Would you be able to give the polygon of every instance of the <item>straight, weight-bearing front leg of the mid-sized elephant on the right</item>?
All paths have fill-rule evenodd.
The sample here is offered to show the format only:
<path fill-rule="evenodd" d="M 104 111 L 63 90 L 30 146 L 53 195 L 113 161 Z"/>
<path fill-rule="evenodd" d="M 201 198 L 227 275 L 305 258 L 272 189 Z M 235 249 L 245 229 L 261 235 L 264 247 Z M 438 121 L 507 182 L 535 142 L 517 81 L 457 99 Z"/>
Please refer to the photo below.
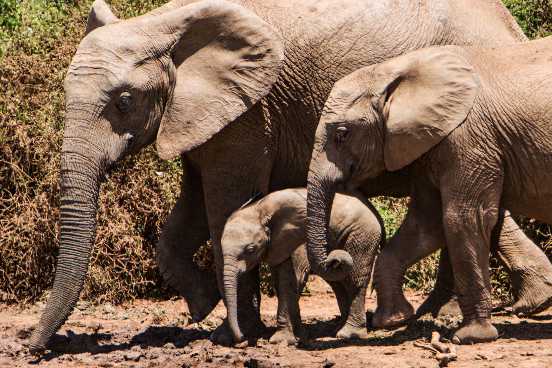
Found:
<path fill-rule="evenodd" d="M 477 185 L 476 179 L 471 178 L 472 183 L 457 180 L 454 188 L 442 189 L 443 227 L 464 315 L 464 327 L 455 333 L 453 342 L 461 344 L 490 342 L 498 337 L 491 324 L 489 253 L 502 183 L 487 180 L 483 186 Z"/>

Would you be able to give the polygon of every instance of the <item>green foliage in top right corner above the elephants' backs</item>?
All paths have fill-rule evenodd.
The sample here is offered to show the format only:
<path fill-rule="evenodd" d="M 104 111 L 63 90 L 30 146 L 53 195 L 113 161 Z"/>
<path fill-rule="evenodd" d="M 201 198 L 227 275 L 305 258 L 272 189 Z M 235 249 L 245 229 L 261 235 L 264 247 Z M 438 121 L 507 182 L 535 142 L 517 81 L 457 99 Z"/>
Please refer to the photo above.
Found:
<path fill-rule="evenodd" d="M 552 34 L 550 0 L 502 0 L 529 39 Z"/>

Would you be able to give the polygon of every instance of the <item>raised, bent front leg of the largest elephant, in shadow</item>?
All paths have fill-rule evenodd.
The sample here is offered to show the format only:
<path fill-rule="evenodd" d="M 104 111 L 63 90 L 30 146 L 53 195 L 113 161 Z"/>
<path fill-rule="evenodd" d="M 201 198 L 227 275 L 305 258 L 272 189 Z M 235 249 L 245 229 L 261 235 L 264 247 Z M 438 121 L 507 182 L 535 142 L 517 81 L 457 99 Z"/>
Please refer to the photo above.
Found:
<path fill-rule="evenodd" d="M 181 194 L 167 218 L 155 249 L 164 280 L 188 303 L 195 322 L 204 319 L 220 301 L 216 276 L 198 268 L 193 256 L 209 240 L 201 175 L 185 155 L 181 158 Z"/>

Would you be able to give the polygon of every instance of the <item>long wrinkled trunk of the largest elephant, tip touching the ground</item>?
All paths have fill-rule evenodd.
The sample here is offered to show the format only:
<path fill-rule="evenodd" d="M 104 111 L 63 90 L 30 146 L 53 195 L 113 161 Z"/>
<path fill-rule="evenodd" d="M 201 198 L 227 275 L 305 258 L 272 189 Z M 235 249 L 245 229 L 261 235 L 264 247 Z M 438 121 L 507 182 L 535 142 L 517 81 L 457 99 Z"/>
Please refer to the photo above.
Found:
<path fill-rule="evenodd" d="M 82 126 L 79 122 L 83 120 L 71 121 L 70 114 L 68 110 L 61 157 L 60 253 L 50 298 L 31 335 L 29 350 L 34 355 L 44 352 L 81 294 L 92 249 L 100 178 L 107 167 L 103 151 L 108 143 L 94 140 L 92 135 L 76 137 L 72 126 Z M 120 151 L 116 146 L 113 152 Z"/>

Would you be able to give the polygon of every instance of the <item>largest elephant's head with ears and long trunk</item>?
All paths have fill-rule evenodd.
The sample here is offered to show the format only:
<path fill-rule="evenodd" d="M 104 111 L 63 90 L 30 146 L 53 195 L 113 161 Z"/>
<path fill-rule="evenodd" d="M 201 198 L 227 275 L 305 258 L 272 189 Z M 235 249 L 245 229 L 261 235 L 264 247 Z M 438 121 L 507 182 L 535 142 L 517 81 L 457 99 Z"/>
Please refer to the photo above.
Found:
<path fill-rule="evenodd" d="M 104 173 L 156 139 L 165 159 L 201 145 L 267 95 L 282 64 L 278 31 L 230 2 L 174 0 L 129 20 L 94 2 L 65 81 L 60 254 L 31 352 L 82 290 Z"/>

